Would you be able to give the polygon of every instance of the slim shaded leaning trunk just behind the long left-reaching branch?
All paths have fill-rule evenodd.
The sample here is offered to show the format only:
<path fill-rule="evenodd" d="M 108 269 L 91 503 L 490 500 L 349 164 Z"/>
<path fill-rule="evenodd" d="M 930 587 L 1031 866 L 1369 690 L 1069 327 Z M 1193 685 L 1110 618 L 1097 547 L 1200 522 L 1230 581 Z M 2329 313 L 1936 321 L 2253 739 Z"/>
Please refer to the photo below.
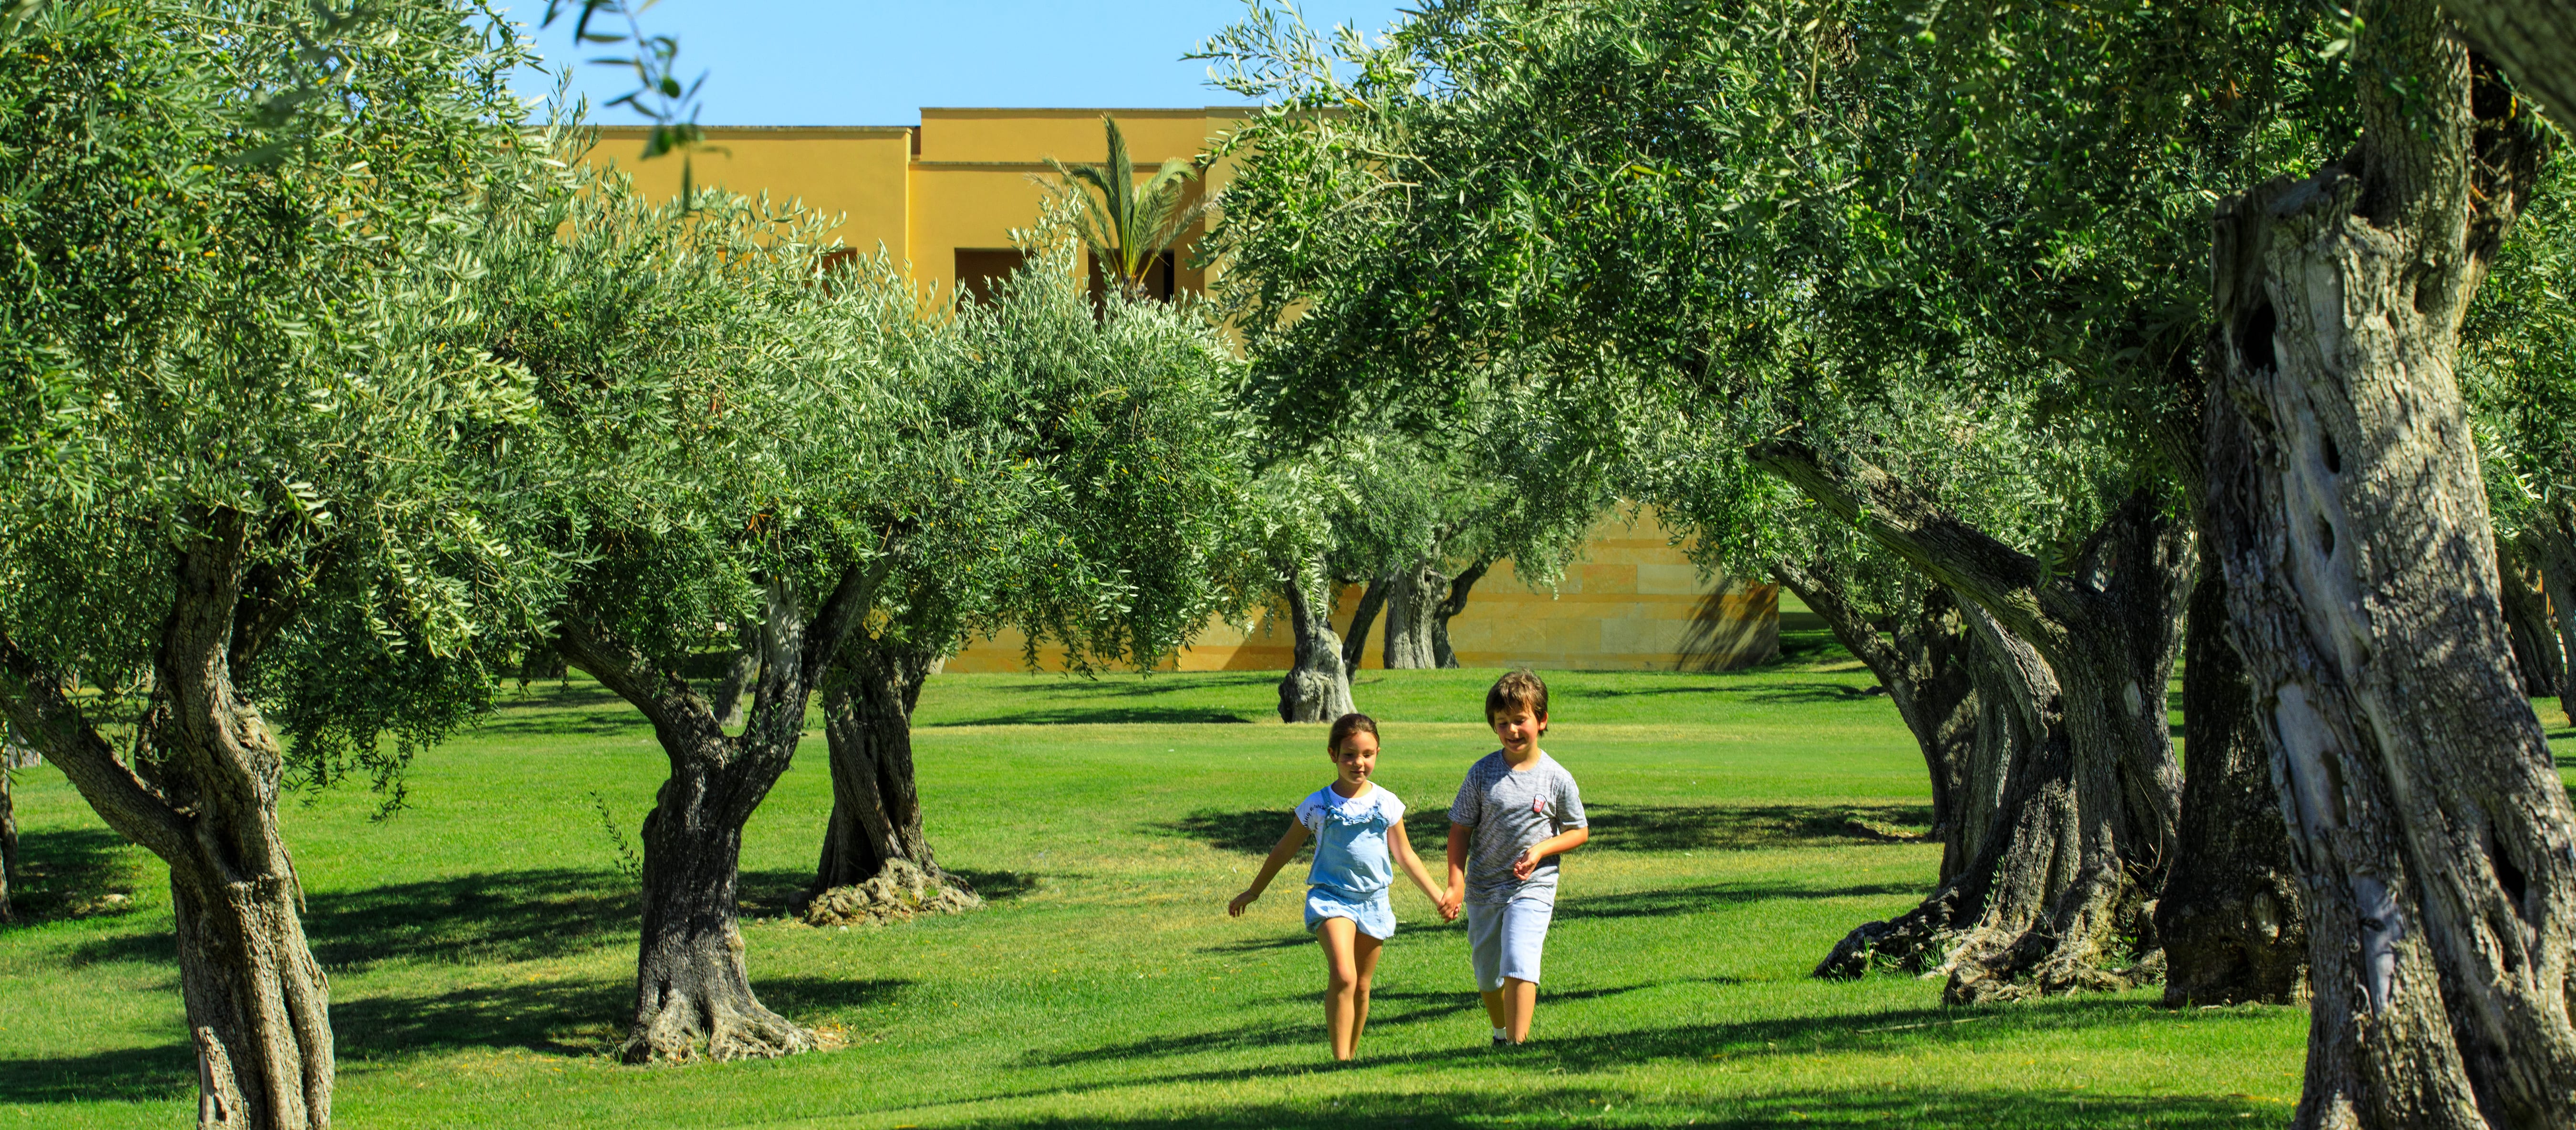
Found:
<path fill-rule="evenodd" d="M 1942 842 L 1940 883 L 1950 883 L 1973 852 L 1968 829 L 1984 829 L 1991 819 L 1986 811 L 1963 808 L 1971 749 L 1978 739 L 1978 698 L 1968 659 L 1973 641 L 1958 602 L 1950 600 L 1950 589 L 1922 584 L 1914 607 L 1873 618 L 1844 592 L 1842 566 L 1829 559 L 1777 561 L 1772 577 L 1806 600 L 1834 638 L 1870 667 L 1880 687 L 1888 687 L 1888 700 L 1914 734 L 1932 777 L 1932 837 Z"/>

